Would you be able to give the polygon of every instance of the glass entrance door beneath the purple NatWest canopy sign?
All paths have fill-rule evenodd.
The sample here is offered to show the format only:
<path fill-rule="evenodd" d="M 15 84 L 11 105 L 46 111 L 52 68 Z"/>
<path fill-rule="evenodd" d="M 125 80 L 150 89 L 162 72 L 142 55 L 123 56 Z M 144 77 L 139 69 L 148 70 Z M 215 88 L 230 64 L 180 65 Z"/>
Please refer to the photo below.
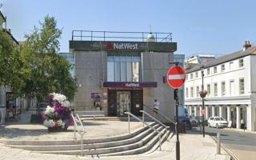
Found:
<path fill-rule="evenodd" d="M 130 111 L 130 91 L 117 92 L 117 109 L 118 116 L 124 116 L 125 112 Z"/>

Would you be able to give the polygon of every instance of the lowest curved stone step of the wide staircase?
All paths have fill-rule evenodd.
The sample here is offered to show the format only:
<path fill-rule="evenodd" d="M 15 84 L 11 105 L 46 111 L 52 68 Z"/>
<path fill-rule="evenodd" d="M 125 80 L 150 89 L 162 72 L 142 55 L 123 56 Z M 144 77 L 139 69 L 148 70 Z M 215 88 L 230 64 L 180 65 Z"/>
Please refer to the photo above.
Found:
<path fill-rule="evenodd" d="M 163 129 L 162 126 L 159 126 L 157 130 L 161 131 Z M 151 129 L 148 129 L 151 130 Z M 83 150 L 83 153 L 86 155 L 98 155 L 98 154 L 109 154 L 109 153 L 116 153 L 116 152 L 122 152 L 126 150 L 134 150 L 136 148 L 140 148 L 144 146 L 147 142 L 150 142 L 152 138 L 154 138 L 156 135 L 155 132 L 152 132 L 146 137 L 142 138 L 142 140 L 122 145 L 122 146 L 114 146 L 114 147 L 106 147 L 106 148 L 97 148 L 97 149 L 90 149 L 90 150 Z M 57 150 L 57 151 L 37 151 L 37 153 L 42 154 L 80 154 L 81 150 Z"/>

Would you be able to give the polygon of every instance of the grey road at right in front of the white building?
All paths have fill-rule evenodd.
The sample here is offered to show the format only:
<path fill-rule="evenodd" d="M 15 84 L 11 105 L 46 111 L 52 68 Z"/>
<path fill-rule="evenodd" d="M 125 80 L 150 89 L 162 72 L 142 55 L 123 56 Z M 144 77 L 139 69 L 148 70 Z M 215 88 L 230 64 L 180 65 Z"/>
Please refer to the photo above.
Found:
<path fill-rule="evenodd" d="M 193 130 L 199 131 L 199 128 Z M 206 134 L 216 138 L 219 132 L 222 135 L 222 146 L 230 151 L 239 160 L 256 159 L 256 133 L 241 132 L 216 128 L 205 128 Z"/>

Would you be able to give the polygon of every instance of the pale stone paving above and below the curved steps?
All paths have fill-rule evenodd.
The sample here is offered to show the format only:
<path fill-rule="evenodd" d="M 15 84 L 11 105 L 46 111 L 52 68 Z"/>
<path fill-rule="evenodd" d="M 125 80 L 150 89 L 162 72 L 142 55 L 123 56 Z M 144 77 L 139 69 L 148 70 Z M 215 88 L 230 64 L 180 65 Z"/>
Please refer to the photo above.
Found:
<path fill-rule="evenodd" d="M 95 138 L 98 136 L 113 136 L 117 134 L 126 134 L 127 122 L 107 122 L 107 121 L 90 121 L 90 124 L 86 126 L 87 138 Z M 134 122 L 134 130 L 140 127 L 141 124 Z M 62 139 L 70 137 L 72 138 L 73 132 L 63 134 L 47 134 L 46 128 L 40 125 L 30 125 L 27 123 L 22 124 L 7 124 L 6 126 L 0 126 L 1 138 L 26 138 L 26 139 L 48 139 L 48 138 L 60 138 Z M 98 129 L 97 131 L 95 131 Z M 34 132 L 36 130 L 36 132 Z M 71 128 L 70 128 L 71 130 Z M 102 132 L 100 132 L 102 130 Z M 18 131 L 18 132 L 17 132 Z M 95 132 L 94 132 L 95 131 Z M 22 133 L 24 132 L 24 133 Z M 38 134 L 42 132 L 41 134 Z M 34 133 L 34 134 L 33 134 Z M 38 134 L 38 136 L 36 135 Z M 69 135 L 70 134 L 70 135 Z M 227 160 L 230 159 L 229 154 L 225 150 L 222 150 L 222 154 L 216 154 L 217 148 L 214 140 L 210 135 L 206 135 L 202 138 L 201 134 L 193 130 L 188 131 L 187 134 L 180 134 L 180 155 L 182 160 Z M 176 136 L 169 138 L 168 141 L 162 144 L 162 150 L 151 150 L 145 154 L 129 155 L 129 156 L 114 156 L 114 157 L 91 157 L 91 156 L 72 156 L 62 154 L 38 154 L 32 153 L 29 150 L 20 150 L 9 148 L 0 143 L 0 160 L 80 160 L 80 159 L 102 159 L 102 160 L 166 160 L 176 159 Z"/>

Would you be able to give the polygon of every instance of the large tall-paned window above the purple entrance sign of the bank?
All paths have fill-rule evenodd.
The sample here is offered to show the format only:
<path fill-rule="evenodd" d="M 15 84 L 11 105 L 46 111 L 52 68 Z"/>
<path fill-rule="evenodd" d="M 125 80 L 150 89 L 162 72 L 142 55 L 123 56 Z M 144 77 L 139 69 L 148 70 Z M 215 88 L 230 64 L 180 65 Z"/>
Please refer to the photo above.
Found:
<path fill-rule="evenodd" d="M 141 58 L 134 56 L 108 56 L 108 82 L 139 82 L 141 73 Z"/>

